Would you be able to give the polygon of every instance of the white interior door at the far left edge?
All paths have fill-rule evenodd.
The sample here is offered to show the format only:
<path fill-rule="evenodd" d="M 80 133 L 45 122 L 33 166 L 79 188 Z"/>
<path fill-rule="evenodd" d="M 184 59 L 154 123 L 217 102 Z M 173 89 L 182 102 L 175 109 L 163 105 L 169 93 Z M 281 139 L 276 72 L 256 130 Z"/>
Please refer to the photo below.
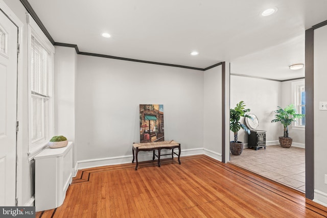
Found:
<path fill-rule="evenodd" d="M 0 205 L 15 206 L 17 27 L 0 11 Z"/>

